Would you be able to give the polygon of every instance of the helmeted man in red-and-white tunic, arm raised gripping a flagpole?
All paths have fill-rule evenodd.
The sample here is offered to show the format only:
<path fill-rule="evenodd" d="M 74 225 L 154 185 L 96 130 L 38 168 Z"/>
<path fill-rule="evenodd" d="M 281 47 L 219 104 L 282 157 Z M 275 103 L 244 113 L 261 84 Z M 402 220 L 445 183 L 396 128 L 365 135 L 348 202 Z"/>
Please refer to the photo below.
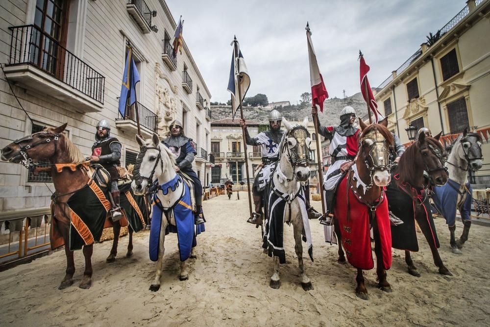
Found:
<path fill-rule="evenodd" d="M 317 117 L 318 109 L 312 107 L 313 117 Z M 320 224 L 329 226 L 332 222 L 333 199 L 335 187 L 342 176 L 343 164 L 353 161 L 357 155 L 359 136 L 361 129 L 354 127 L 356 121 L 356 111 L 351 106 L 346 106 L 340 113 L 339 126 L 321 126 L 317 120 L 318 132 L 320 135 L 330 140 L 328 153 L 331 156 L 332 164 L 323 177 L 323 190 L 325 194 L 326 217 L 320 217 Z"/>

